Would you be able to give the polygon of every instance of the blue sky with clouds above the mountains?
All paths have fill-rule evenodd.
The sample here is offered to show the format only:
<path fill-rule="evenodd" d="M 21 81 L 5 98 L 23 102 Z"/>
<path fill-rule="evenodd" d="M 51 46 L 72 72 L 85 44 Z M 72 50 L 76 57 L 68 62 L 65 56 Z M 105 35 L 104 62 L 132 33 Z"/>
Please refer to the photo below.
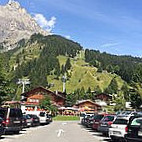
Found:
<path fill-rule="evenodd" d="M 142 57 L 142 0 L 16 1 L 44 30 L 83 48 Z"/>

